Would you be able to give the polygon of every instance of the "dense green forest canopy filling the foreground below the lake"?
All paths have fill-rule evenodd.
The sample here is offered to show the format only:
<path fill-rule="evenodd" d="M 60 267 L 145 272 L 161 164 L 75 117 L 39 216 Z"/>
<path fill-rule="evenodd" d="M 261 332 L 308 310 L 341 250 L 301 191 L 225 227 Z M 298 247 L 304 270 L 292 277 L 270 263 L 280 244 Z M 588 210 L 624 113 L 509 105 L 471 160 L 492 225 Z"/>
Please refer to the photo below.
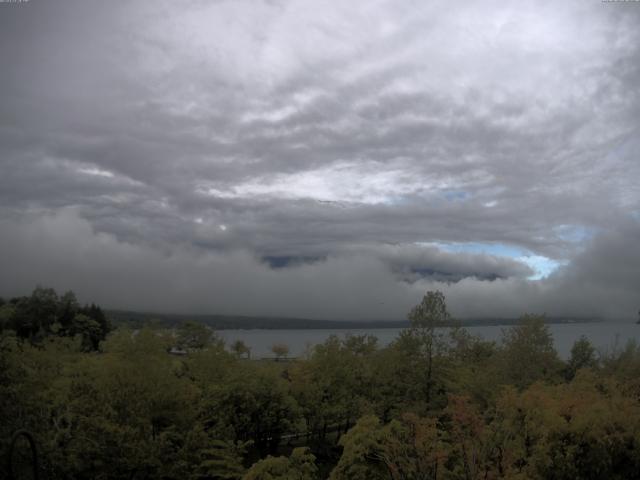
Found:
<path fill-rule="evenodd" d="M 408 318 L 385 348 L 332 336 L 282 362 L 197 322 L 112 330 L 71 292 L 0 301 L 5 464 L 27 472 L 25 445 L 6 458 L 26 429 L 49 479 L 640 478 L 636 344 L 562 361 L 535 315 L 487 342 L 440 328 L 440 292 Z"/>

